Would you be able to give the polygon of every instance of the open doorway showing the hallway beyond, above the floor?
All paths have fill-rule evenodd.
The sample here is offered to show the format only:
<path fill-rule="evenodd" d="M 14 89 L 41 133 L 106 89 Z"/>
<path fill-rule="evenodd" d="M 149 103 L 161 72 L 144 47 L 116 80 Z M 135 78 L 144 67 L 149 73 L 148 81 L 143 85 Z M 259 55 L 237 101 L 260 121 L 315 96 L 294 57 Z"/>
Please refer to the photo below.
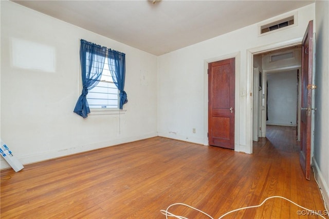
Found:
<path fill-rule="evenodd" d="M 267 125 L 293 127 L 300 139 L 301 45 L 253 55 L 252 141 Z"/>

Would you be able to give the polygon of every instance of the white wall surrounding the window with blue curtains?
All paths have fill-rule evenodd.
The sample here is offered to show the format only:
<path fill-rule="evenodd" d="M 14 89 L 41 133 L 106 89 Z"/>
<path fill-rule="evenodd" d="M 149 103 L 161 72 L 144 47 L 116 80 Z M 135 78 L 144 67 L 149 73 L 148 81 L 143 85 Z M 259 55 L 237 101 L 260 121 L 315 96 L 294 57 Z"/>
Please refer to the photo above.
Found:
<path fill-rule="evenodd" d="M 39 50 L 27 51 L 27 46 L 15 52 L 12 42 L 17 39 Z M 90 115 L 83 119 L 72 112 L 81 94 L 79 39 L 126 54 L 125 91 L 129 102 L 124 105 L 124 115 Z M 48 64 L 22 66 L 13 62 L 20 52 L 30 52 L 41 60 L 41 48 L 53 51 L 53 58 L 46 59 Z M 49 66 L 51 63 L 54 66 Z M 153 137 L 156 131 L 156 56 L 1 1 L 1 138 L 21 162 Z M 1 168 L 6 167 L 2 159 Z"/>

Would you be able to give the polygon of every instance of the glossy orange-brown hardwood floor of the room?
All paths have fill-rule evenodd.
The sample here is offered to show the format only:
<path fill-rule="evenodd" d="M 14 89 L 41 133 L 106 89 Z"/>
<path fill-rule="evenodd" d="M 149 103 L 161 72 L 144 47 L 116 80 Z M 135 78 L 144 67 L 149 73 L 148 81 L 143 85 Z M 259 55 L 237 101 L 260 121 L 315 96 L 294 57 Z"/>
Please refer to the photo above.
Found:
<path fill-rule="evenodd" d="M 155 137 L 53 159 L 15 173 L 1 171 L 1 218 L 166 218 L 185 203 L 213 218 L 280 195 L 313 210 L 325 208 L 312 175 L 306 180 L 295 146 L 269 139 L 254 153 Z M 270 199 L 224 218 L 320 218 Z M 300 209 L 301 210 L 301 209 Z M 172 213 L 207 218 L 184 206 Z"/>

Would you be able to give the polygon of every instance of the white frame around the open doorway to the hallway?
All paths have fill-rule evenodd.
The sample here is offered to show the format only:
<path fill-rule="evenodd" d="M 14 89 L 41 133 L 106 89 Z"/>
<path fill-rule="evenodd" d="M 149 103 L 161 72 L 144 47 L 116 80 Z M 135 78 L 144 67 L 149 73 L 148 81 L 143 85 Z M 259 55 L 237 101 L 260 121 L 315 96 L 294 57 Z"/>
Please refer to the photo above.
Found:
<path fill-rule="evenodd" d="M 275 44 L 255 47 L 247 49 L 247 94 L 252 93 L 253 90 L 253 55 L 258 53 L 264 53 L 271 50 L 288 48 L 291 46 L 297 46 L 302 43 L 303 37 L 296 38 L 288 41 L 283 41 Z M 252 154 L 252 96 L 247 95 L 246 100 L 246 153 Z M 312 152 L 311 152 L 312 153 Z"/>

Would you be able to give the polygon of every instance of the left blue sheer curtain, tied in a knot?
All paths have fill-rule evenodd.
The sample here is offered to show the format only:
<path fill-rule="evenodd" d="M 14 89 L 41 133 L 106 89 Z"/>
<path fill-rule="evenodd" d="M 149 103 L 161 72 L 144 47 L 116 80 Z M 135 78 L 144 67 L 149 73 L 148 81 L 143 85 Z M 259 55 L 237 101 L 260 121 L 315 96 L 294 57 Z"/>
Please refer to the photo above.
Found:
<path fill-rule="evenodd" d="M 80 95 L 74 111 L 76 114 L 87 118 L 90 113 L 87 102 L 88 90 L 93 89 L 99 82 L 104 67 L 106 47 L 81 40 L 80 63 L 82 73 L 82 94 Z"/>

